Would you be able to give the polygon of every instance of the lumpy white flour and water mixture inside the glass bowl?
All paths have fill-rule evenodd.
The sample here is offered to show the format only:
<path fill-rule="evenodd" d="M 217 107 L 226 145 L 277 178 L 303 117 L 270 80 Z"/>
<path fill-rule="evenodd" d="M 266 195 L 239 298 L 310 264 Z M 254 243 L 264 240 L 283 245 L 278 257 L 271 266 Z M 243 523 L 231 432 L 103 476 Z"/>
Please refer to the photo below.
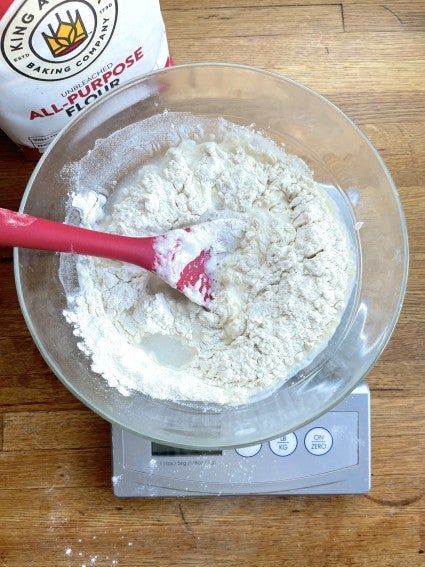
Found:
<path fill-rule="evenodd" d="M 67 320 L 92 369 L 124 395 L 236 405 L 309 363 L 351 290 L 346 229 L 305 164 L 249 128 L 180 135 L 116 182 L 70 197 L 81 225 L 147 236 L 212 218 L 245 221 L 206 310 L 130 264 L 78 257 Z"/>

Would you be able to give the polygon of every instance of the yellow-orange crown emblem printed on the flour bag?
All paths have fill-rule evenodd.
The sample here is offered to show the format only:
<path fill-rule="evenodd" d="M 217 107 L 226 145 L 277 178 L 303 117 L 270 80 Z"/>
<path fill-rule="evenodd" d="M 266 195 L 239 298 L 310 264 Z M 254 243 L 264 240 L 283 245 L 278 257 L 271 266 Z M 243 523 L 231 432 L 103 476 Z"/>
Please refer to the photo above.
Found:
<path fill-rule="evenodd" d="M 81 45 L 87 39 L 88 33 L 78 10 L 75 11 L 74 18 L 69 10 L 66 11 L 68 21 L 61 20 L 58 13 L 55 15 L 58 21 L 56 31 L 49 24 L 50 35 L 45 32 L 42 35 L 53 57 L 61 57 Z"/>

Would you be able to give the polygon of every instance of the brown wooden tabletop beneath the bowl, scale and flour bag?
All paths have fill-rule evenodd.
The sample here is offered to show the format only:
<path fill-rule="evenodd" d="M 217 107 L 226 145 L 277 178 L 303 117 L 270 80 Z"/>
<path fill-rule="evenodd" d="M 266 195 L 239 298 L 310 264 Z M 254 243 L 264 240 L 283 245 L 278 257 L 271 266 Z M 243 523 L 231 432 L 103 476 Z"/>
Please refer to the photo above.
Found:
<path fill-rule="evenodd" d="M 107 423 L 41 359 L 1 250 L 0 565 L 425 565 L 425 2 L 163 0 L 176 63 L 281 72 L 342 108 L 400 191 L 404 308 L 369 375 L 373 487 L 363 496 L 117 499 Z M 34 164 L 0 137 L 0 206 Z"/>

